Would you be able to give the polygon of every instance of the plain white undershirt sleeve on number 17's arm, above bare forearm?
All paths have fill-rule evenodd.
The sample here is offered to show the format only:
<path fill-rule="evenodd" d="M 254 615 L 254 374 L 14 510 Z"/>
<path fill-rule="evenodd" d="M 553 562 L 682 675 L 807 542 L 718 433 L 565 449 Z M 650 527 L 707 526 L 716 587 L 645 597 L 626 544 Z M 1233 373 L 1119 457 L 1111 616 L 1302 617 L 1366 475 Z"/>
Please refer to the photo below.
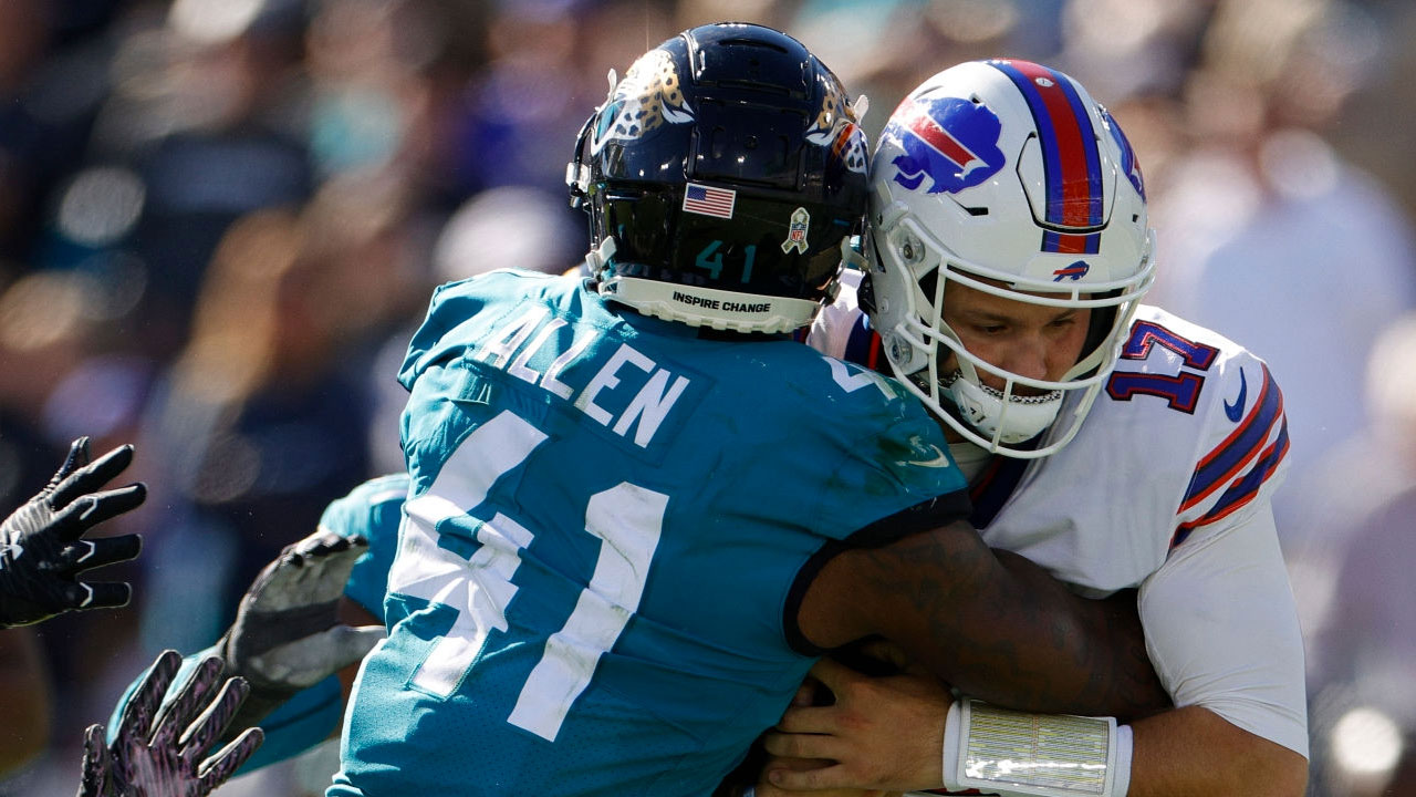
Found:
<path fill-rule="evenodd" d="M 1198 529 L 1138 600 L 1146 650 L 1177 706 L 1307 757 L 1303 635 L 1267 501 Z"/>

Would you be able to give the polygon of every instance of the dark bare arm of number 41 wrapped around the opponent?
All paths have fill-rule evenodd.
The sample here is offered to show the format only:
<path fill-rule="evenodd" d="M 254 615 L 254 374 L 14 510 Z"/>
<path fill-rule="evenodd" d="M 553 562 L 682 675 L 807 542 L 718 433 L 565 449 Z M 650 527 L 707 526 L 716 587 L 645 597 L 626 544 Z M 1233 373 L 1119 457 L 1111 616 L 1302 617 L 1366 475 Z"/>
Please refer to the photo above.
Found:
<path fill-rule="evenodd" d="M 967 526 L 833 559 L 801 620 L 823 647 L 852 638 L 831 635 L 841 628 L 884 634 L 966 693 L 1008 708 L 1131 718 L 1170 705 L 1133 600 L 1073 596 Z"/>

